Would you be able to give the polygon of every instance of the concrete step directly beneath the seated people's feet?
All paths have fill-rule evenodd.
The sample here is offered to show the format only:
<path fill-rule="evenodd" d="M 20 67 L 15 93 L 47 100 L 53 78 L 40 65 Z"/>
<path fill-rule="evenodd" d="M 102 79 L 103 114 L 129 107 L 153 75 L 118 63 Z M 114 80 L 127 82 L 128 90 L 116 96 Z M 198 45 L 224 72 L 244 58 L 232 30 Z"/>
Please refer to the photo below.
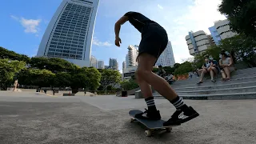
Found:
<path fill-rule="evenodd" d="M 255 82 L 256 76 L 253 77 L 246 77 L 246 78 L 236 78 L 231 79 L 230 81 L 222 81 L 218 80 L 217 82 L 211 82 L 210 80 L 207 80 L 201 84 L 194 83 L 188 83 L 188 84 L 182 84 L 182 85 L 171 85 L 174 89 L 175 88 L 181 88 L 181 87 L 199 87 L 199 86 L 216 86 L 216 85 L 225 85 L 225 84 L 234 84 L 238 82 Z"/>

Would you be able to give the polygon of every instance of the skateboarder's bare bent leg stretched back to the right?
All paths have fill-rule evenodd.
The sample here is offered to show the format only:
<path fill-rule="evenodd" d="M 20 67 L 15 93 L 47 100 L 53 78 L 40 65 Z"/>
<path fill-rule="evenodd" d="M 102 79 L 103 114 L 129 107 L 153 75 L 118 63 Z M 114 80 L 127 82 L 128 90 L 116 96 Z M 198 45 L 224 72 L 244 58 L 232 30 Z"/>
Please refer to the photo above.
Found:
<path fill-rule="evenodd" d="M 136 74 L 138 78 L 143 79 L 146 83 L 150 84 L 154 87 L 154 90 L 157 90 L 159 94 L 163 97 L 172 101 L 174 98 L 178 96 L 175 91 L 170 87 L 168 82 L 162 77 L 159 77 L 157 74 L 152 72 L 154 62 L 157 59 L 150 54 L 141 54 L 138 57 L 138 69 Z M 150 89 L 145 89 L 142 94 L 152 94 Z"/>

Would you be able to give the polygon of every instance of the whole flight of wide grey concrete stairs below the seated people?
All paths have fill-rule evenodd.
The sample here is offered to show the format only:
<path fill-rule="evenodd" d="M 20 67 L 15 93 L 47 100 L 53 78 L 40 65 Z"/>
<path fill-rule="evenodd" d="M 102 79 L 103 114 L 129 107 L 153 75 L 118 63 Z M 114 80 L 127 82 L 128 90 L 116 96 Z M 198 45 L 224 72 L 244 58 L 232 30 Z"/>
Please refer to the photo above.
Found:
<path fill-rule="evenodd" d="M 222 81 L 218 75 L 216 82 L 204 79 L 197 84 L 199 78 L 190 78 L 174 82 L 171 85 L 176 93 L 184 99 L 256 99 L 256 68 L 236 70 L 230 81 Z M 164 98 L 154 92 L 154 98 Z"/>

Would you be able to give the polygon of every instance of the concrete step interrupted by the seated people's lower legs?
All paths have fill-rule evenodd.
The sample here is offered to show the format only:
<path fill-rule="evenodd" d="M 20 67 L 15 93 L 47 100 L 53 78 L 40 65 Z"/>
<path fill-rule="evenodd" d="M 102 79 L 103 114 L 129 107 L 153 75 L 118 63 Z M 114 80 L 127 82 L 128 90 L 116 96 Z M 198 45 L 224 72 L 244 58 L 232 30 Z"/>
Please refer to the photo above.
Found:
<path fill-rule="evenodd" d="M 253 72 L 253 73 L 249 73 L 249 74 L 238 74 L 238 75 L 233 75 L 231 76 L 231 79 L 236 79 L 236 78 L 247 78 L 247 77 L 252 77 L 252 76 L 256 76 L 256 71 Z M 181 81 L 177 81 L 177 82 L 174 82 L 173 86 L 175 85 L 180 85 L 180 84 L 190 84 L 190 83 L 197 83 L 199 81 L 199 78 L 193 78 L 193 79 L 187 79 L 187 80 L 183 80 L 182 82 Z M 203 82 L 206 82 L 210 80 L 210 77 L 209 78 L 204 78 L 203 79 Z M 218 74 L 218 77 L 216 79 L 216 81 L 218 80 L 222 80 L 222 75 L 221 74 Z"/>

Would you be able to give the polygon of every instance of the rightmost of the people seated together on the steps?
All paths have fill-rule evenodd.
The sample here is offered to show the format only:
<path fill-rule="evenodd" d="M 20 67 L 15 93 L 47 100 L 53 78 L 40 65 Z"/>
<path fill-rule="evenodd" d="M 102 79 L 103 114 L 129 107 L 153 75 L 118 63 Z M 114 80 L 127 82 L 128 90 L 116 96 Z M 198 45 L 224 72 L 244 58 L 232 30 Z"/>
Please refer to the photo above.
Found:
<path fill-rule="evenodd" d="M 221 67 L 222 79 L 230 80 L 230 73 L 234 71 L 234 62 L 232 58 L 224 52 L 221 53 L 221 59 L 219 60 L 219 66 Z"/>

